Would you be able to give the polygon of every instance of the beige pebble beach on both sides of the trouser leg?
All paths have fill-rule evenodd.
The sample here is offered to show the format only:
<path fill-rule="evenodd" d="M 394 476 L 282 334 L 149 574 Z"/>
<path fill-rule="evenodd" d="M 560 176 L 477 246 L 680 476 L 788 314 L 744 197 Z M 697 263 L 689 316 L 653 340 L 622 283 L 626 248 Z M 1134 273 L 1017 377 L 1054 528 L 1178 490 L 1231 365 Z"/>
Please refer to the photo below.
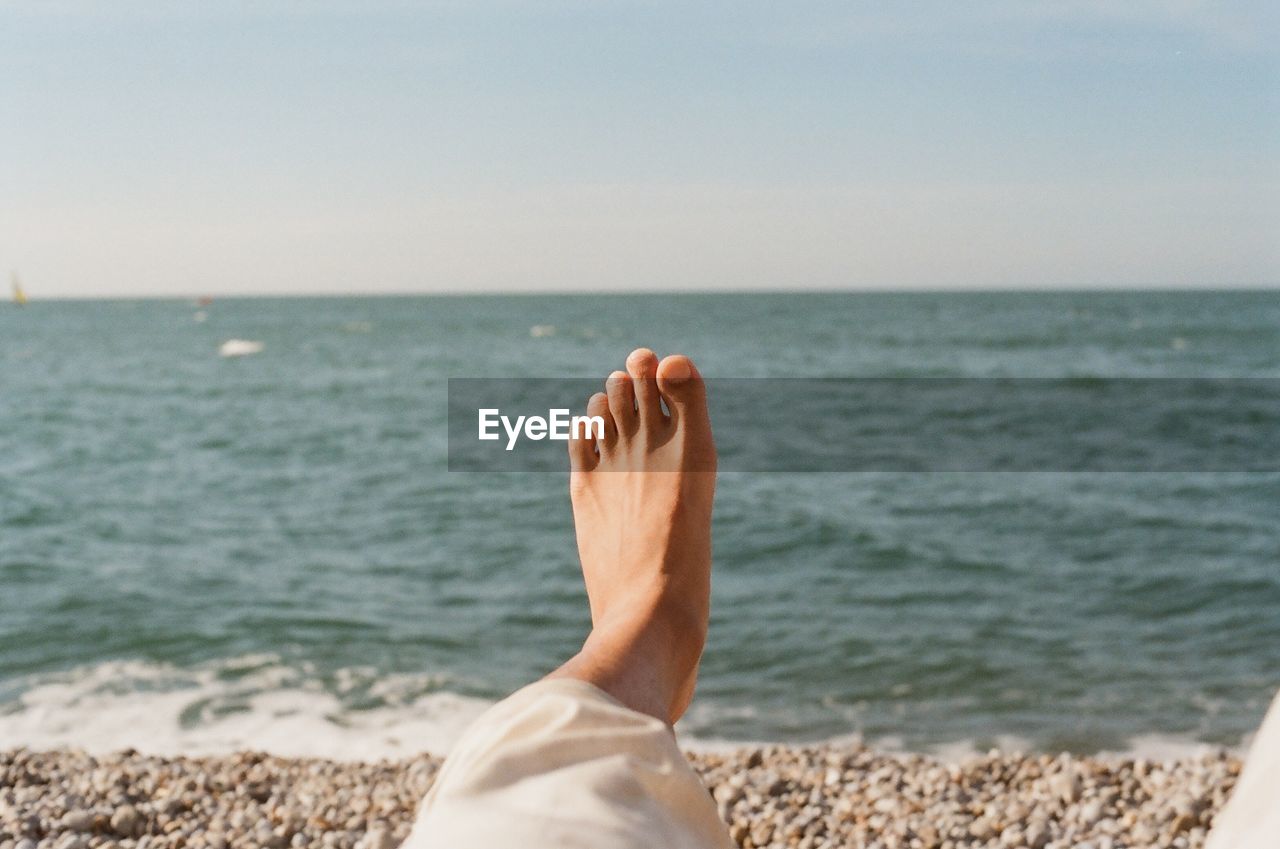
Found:
<path fill-rule="evenodd" d="M 858 744 L 689 753 L 744 849 L 1193 849 L 1240 762 Z M 0 753 L 0 849 L 393 849 L 440 766 Z"/>

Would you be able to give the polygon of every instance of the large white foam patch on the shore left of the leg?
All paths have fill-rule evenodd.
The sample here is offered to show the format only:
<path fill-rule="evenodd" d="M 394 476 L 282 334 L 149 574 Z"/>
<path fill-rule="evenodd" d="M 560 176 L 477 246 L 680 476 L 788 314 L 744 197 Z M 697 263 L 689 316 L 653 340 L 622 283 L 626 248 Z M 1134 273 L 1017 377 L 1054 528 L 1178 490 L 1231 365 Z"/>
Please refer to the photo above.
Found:
<path fill-rule="evenodd" d="M 0 706 L 0 748 L 133 748 L 155 754 L 224 754 L 252 749 L 337 761 L 447 753 L 488 706 L 484 699 L 431 691 L 430 676 L 387 676 L 374 685 L 378 707 L 343 704 L 271 656 L 247 656 L 182 670 L 164 663 L 109 661 L 29 679 Z M 396 691 L 419 691 L 397 698 Z M 428 691 L 422 691 L 428 690 Z"/>

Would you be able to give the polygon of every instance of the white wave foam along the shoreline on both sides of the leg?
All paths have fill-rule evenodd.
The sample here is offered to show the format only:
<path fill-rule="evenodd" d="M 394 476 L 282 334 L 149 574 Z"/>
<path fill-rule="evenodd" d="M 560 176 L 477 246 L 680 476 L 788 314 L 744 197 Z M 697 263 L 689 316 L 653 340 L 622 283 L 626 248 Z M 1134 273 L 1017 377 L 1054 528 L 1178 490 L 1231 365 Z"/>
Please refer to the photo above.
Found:
<path fill-rule="evenodd" d="M 275 654 L 247 654 L 196 667 L 146 661 L 108 661 L 0 685 L 0 749 L 83 749 L 101 754 L 137 749 L 159 756 L 219 756 L 268 752 L 333 761 L 403 759 L 447 754 L 490 699 L 449 689 L 445 676 L 387 675 L 372 667 L 319 674 Z M 695 704 L 695 725 L 708 729 L 721 715 L 742 718 L 753 708 Z M 1025 738 L 997 735 L 1002 752 L 1036 752 Z M 726 752 L 778 741 L 690 734 L 695 752 Z M 1231 747 L 1235 753 L 1244 750 Z M 867 744 L 910 754 L 900 738 L 844 734 L 797 745 Z M 1176 735 L 1139 735 L 1112 757 L 1170 761 L 1220 752 L 1222 747 Z M 974 740 L 927 747 L 927 754 L 960 762 L 989 750 Z"/>

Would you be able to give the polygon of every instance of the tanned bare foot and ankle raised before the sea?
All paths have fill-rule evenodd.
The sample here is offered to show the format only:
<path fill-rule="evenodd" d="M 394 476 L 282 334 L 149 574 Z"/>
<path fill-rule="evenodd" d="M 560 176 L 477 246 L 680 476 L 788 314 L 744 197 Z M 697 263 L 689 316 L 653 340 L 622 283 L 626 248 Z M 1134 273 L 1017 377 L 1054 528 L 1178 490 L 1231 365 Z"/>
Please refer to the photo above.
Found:
<path fill-rule="evenodd" d="M 694 695 L 710 602 L 716 443 L 705 387 L 687 357 L 659 364 L 639 348 L 605 388 L 588 402 L 604 438 L 570 442 L 591 634 L 552 676 L 673 724 Z"/>

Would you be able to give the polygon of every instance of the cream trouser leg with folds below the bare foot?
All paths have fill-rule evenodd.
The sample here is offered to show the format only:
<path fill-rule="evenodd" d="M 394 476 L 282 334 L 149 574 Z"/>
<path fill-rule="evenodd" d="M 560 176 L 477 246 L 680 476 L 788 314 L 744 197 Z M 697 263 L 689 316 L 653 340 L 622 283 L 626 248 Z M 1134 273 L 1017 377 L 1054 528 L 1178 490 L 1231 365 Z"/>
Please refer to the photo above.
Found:
<path fill-rule="evenodd" d="M 730 849 L 671 729 L 575 679 L 530 684 L 458 740 L 404 849 Z"/>

